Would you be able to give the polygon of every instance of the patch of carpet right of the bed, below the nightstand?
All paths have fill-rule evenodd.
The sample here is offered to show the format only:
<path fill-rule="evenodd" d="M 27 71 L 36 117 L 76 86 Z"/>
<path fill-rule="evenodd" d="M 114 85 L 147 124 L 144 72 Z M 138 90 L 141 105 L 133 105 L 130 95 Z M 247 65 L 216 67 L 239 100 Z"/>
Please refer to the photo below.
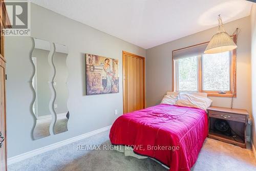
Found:
<path fill-rule="evenodd" d="M 207 138 L 193 171 L 256 170 L 256 161 L 249 143 L 247 149 Z"/>

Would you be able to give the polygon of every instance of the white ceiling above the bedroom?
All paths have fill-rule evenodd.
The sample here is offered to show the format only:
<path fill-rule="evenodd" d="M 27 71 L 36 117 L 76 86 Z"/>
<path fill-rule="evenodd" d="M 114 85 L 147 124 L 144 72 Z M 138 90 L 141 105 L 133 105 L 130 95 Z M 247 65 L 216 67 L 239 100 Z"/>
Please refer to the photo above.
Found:
<path fill-rule="evenodd" d="M 31 0 L 144 49 L 250 15 L 245 0 Z"/>

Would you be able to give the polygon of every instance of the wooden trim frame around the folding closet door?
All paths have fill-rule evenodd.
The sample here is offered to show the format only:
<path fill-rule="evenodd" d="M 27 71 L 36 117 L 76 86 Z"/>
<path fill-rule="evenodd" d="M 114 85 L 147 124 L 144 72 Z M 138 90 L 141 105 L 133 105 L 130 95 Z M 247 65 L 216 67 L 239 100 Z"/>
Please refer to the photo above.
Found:
<path fill-rule="evenodd" d="M 125 63 L 124 63 L 124 55 L 128 55 L 128 56 L 132 56 L 132 57 L 136 57 L 136 58 L 140 58 L 143 60 L 143 109 L 145 109 L 145 57 L 143 56 L 139 56 L 139 55 L 135 55 L 133 53 L 130 53 L 130 52 L 126 52 L 126 51 L 123 51 L 123 57 L 122 57 L 122 68 L 123 68 L 123 114 L 124 114 L 124 105 L 125 105 L 125 79 L 124 79 L 124 76 L 125 76 Z"/>

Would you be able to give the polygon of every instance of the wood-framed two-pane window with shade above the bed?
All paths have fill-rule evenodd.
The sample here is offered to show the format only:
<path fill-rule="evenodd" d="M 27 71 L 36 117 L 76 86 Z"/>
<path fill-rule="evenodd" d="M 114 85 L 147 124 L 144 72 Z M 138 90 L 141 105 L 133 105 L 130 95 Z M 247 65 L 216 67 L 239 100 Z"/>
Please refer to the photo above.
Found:
<path fill-rule="evenodd" d="M 205 92 L 208 96 L 222 97 L 233 94 L 236 97 L 236 50 L 203 54 L 207 44 L 173 51 L 173 91 Z"/>

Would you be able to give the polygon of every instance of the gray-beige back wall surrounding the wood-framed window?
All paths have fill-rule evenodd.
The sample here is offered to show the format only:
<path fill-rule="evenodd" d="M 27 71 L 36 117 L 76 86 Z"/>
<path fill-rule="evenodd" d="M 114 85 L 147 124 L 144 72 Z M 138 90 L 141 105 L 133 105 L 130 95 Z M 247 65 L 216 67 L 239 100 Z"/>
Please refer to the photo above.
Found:
<path fill-rule="evenodd" d="M 233 108 L 242 108 L 251 112 L 251 73 L 250 73 L 250 16 L 224 24 L 226 31 L 232 34 L 240 28 L 237 54 L 237 98 Z M 217 27 L 192 34 L 166 44 L 146 50 L 146 104 L 158 104 L 166 91 L 172 91 L 172 51 L 209 41 L 217 33 Z M 212 105 L 230 106 L 229 97 L 209 97 Z"/>

